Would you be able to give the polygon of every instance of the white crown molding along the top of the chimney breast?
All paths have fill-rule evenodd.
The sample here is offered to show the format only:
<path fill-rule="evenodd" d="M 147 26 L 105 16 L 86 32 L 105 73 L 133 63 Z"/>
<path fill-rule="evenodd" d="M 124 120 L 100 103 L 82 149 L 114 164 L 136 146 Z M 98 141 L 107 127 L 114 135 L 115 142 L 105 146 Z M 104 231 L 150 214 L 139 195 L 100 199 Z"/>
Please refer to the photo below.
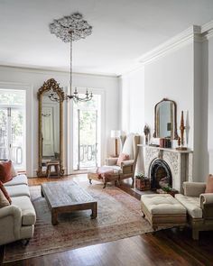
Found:
<path fill-rule="evenodd" d="M 194 36 L 199 35 L 200 33 L 200 26 L 193 25 L 185 31 L 174 36 L 169 41 L 165 41 L 155 49 L 145 53 L 138 59 L 138 61 L 142 64 L 146 64 L 153 60 L 159 59 L 169 51 L 178 50 L 182 46 L 192 42 L 194 40 Z"/>

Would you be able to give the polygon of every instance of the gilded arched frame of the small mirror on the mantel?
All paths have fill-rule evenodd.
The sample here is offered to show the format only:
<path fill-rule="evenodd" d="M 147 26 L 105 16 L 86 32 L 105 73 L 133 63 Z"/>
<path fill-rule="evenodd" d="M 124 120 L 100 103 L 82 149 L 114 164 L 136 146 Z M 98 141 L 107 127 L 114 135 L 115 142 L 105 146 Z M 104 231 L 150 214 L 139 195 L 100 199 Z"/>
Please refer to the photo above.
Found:
<path fill-rule="evenodd" d="M 154 106 L 154 133 L 153 133 L 153 137 L 154 138 L 158 138 L 157 136 L 157 132 L 159 132 L 159 122 L 157 119 L 157 107 L 158 105 L 160 105 L 162 102 L 171 102 L 173 104 L 174 107 L 174 128 L 173 128 L 173 137 L 171 137 L 171 139 L 173 140 L 178 140 L 178 132 L 177 132 L 177 105 L 174 101 L 171 101 L 167 98 L 163 98 L 162 101 L 160 101 L 159 103 L 157 103 Z"/>

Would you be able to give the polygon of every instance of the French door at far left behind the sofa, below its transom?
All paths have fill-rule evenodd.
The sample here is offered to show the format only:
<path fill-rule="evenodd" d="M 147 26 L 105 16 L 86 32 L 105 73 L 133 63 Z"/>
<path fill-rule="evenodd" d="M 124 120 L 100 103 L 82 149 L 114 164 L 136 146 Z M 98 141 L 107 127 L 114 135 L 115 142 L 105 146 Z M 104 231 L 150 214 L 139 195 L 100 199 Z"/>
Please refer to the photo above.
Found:
<path fill-rule="evenodd" d="M 22 106 L 0 106 L 0 160 L 25 168 L 25 117 Z"/>

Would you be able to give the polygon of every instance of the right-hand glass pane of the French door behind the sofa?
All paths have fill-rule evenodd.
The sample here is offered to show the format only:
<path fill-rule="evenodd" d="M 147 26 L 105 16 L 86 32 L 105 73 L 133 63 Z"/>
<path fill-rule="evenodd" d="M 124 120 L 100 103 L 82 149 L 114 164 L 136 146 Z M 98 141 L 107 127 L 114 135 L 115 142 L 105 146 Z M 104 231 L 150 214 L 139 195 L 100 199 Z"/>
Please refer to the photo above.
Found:
<path fill-rule="evenodd" d="M 11 109 L 11 160 L 14 166 L 24 166 L 24 116 L 23 109 Z"/>

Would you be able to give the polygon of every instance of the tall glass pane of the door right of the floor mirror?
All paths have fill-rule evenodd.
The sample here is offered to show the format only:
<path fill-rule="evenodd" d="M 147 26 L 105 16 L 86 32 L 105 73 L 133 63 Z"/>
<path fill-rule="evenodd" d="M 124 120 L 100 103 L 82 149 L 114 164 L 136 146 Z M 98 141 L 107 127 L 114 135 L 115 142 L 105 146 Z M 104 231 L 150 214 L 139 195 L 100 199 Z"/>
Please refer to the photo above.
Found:
<path fill-rule="evenodd" d="M 97 167 L 97 110 L 79 110 L 79 170 Z"/>

